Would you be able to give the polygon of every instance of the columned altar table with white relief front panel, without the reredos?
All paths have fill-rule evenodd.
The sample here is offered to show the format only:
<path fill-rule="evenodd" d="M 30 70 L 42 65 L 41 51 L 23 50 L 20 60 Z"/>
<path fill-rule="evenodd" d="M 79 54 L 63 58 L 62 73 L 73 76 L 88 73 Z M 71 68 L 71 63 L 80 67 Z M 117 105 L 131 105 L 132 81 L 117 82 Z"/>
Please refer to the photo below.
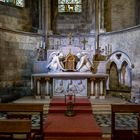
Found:
<path fill-rule="evenodd" d="M 106 95 L 107 80 L 107 74 L 65 72 L 32 74 L 31 82 L 36 89 L 36 98 L 64 96 L 69 90 L 72 90 L 76 96 L 89 96 L 91 98 L 98 97 L 103 99 Z M 62 81 L 65 85 L 63 85 Z M 73 81 L 74 85 L 77 83 L 75 89 L 73 89 L 72 86 L 70 87 L 70 85 L 72 85 L 71 82 Z M 87 93 L 88 81 L 90 87 L 89 92 Z M 81 82 L 83 83 L 82 85 Z M 79 87 L 79 89 L 76 87 Z M 53 92 L 51 90 L 52 88 Z"/>

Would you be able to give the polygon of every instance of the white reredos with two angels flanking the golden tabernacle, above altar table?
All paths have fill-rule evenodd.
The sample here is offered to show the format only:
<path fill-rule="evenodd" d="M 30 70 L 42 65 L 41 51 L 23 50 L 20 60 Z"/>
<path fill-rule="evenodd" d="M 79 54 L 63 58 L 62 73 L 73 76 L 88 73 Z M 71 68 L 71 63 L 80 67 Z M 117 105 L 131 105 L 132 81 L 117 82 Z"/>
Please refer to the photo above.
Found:
<path fill-rule="evenodd" d="M 47 50 L 49 72 L 91 72 L 93 53 L 69 45 L 59 50 Z"/>

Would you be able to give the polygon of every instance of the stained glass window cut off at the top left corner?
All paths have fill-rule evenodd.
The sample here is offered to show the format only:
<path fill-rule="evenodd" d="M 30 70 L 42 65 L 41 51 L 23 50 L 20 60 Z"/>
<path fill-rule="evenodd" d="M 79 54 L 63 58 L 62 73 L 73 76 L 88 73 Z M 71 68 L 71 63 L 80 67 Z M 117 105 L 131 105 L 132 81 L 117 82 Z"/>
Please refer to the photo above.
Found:
<path fill-rule="evenodd" d="M 24 7 L 25 0 L 0 0 L 0 2 L 9 3 L 18 7 Z"/>

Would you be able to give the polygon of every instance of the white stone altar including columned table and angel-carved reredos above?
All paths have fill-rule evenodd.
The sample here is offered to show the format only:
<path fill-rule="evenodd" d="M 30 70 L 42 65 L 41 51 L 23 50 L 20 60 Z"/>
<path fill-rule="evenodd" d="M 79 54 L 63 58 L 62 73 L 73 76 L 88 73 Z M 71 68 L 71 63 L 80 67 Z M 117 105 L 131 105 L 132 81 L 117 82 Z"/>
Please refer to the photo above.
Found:
<path fill-rule="evenodd" d="M 71 44 L 59 50 L 47 50 L 47 60 L 40 64 L 44 71 L 34 72 L 31 81 L 37 99 L 65 96 L 68 92 L 100 99 L 106 95 L 106 61 L 93 73 L 93 52 L 90 50 Z"/>

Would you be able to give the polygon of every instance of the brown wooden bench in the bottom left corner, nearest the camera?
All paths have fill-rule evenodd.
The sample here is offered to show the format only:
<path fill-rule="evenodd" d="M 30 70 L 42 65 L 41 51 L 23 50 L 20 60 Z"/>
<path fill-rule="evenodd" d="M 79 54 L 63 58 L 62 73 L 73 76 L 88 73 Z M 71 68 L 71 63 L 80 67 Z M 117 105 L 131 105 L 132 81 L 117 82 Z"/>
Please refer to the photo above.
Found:
<path fill-rule="evenodd" d="M 25 140 L 31 140 L 31 120 L 1 119 L 0 139 L 14 139 L 14 134 L 26 134 Z"/>

